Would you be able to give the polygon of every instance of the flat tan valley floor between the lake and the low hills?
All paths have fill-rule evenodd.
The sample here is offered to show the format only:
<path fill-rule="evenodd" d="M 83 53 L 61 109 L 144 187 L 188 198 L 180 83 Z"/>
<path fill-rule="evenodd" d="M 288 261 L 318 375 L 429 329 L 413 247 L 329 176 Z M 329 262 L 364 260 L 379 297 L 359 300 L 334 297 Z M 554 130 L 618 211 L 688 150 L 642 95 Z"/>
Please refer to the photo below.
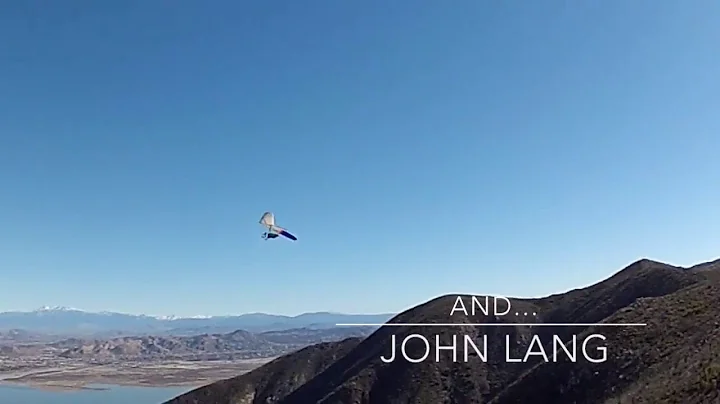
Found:
<path fill-rule="evenodd" d="M 274 358 L 233 361 L 120 362 L 93 365 L 68 364 L 0 371 L 0 383 L 42 389 L 97 389 L 97 385 L 202 386 L 247 373 Z"/>

